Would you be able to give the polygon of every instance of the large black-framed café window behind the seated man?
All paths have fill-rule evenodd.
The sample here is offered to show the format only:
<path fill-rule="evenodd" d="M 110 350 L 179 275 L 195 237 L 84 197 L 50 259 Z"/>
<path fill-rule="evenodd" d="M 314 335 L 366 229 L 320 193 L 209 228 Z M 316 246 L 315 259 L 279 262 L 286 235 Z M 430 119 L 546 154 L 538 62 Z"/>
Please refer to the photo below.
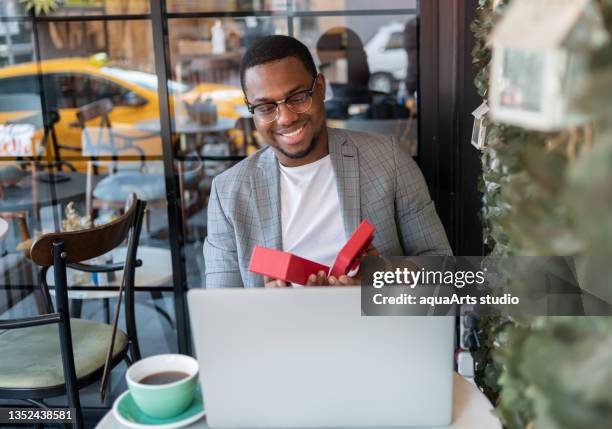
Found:
<path fill-rule="evenodd" d="M 418 155 L 416 0 L 166 0 L 161 13 L 155 1 L 67 0 L 44 17 L 0 2 L 0 129 L 21 130 L 19 153 L 35 146 L 29 157 L 0 153 L 19 184 L 0 199 L 14 219 L 0 249 L 12 264 L 0 315 L 41 308 L 28 237 L 62 230 L 69 203 L 73 218 L 108 223 L 133 190 L 147 202 L 135 279 L 143 356 L 189 351 L 184 294 L 205 286 L 212 180 L 265 145 L 239 79 L 258 37 L 290 35 L 309 48 L 328 83 L 329 126 L 384 133 Z M 55 181 L 33 180 L 58 169 Z M 110 317 L 116 293 L 92 288 L 113 281 L 70 273 L 75 314 Z M 113 373 L 111 403 L 124 369 Z M 83 406 L 108 406 L 94 391 Z"/>

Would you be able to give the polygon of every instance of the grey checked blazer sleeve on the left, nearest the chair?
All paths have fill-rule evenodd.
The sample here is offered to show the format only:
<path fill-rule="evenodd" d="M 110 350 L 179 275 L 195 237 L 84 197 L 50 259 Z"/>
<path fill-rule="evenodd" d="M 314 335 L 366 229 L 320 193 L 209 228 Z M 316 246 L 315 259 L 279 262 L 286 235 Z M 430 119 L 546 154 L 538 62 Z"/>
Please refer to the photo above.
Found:
<path fill-rule="evenodd" d="M 208 235 L 204 240 L 206 287 L 242 287 L 234 226 L 223 211 L 213 180 L 208 201 Z"/>

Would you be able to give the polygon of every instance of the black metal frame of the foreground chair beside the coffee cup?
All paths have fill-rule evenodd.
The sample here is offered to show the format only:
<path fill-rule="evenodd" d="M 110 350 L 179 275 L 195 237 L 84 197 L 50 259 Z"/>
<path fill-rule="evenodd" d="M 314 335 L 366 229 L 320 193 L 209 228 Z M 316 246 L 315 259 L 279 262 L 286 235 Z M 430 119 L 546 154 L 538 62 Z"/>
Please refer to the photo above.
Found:
<path fill-rule="evenodd" d="M 48 324 L 58 324 L 60 350 L 62 356 L 62 365 L 64 369 L 65 384 L 51 386 L 46 388 L 3 388 L 0 387 L 1 399 L 17 399 L 26 401 L 37 407 L 49 409 L 43 401 L 43 398 L 55 397 L 66 394 L 68 399 L 68 407 L 74 408 L 76 413 L 73 417 L 72 426 L 74 428 L 83 427 L 83 418 L 81 413 L 79 389 L 86 387 L 102 376 L 104 368 L 101 367 L 93 373 L 77 379 L 74 364 L 74 355 L 72 348 L 72 332 L 70 328 L 70 313 L 68 306 L 68 283 L 66 279 L 66 269 L 72 268 L 75 270 L 86 272 L 108 273 L 124 270 L 125 276 L 125 318 L 128 334 L 128 347 L 122 350 L 117 356 L 111 360 L 111 367 L 115 367 L 121 361 L 125 360 L 128 365 L 132 362 L 140 360 L 140 348 L 138 345 L 138 336 L 136 333 L 136 318 L 134 312 L 134 278 L 135 269 L 142 265 L 142 261 L 136 259 L 140 230 L 142 228 L 142 218 L 144 215 L 146 203 L 141 200 L 136 202 L 136 212 L 134 222 L 131 227 L 131 232 L 128 239 L 128 250 L 126 263 L 114 263 L 106 265 L 90 265 L 84 263 L 66 263 L 67 257 L 64 242 L 53 243 L 53 269 L 55 279 L 55 302 L 56 309 L 53 308 L 49 288 L 45 280 L 45 274 L 49 267 L 41 268 L 40 286 L 44 296 L 47 314 L 42 314 L 34 317 L 27 317 L 12 320 L 0 320 L 0 330 L 2 329 L 19 329 L 31 326 L 40 326 Z M 129 351 L 129 356 L 128 356 Z"/>

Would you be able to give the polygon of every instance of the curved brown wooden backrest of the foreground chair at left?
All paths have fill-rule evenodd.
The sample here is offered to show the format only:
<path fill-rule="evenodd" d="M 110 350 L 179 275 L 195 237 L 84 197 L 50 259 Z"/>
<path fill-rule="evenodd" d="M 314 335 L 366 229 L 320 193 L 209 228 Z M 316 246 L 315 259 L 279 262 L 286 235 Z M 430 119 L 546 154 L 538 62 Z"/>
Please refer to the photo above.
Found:
<path fill-rule="evenodd" d="M 67 264 L 101 256 L 119 246 L 134 225 L 138 200 L 132 195 L 129 208 L 107 224 L 80 231 L 53 232 L 40 236 L 30 248 L 30 258 L 38 265 L 53 265 L 53 243 L 64 243 Z"/>

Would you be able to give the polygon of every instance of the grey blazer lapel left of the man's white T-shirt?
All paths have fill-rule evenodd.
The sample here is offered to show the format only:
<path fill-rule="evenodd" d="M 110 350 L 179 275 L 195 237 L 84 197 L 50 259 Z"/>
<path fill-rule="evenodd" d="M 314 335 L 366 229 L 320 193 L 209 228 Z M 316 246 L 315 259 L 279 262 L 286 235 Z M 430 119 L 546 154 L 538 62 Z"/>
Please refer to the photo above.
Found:
<path fill-rule="evenodd" d="M 263 244 L 281 250 L 280 180 L 278 162 L 272 149 L 261 155 L 258 168 L 251 176 L 251 189 L 255 197 L 255 213 L 263 233 Z"/>

